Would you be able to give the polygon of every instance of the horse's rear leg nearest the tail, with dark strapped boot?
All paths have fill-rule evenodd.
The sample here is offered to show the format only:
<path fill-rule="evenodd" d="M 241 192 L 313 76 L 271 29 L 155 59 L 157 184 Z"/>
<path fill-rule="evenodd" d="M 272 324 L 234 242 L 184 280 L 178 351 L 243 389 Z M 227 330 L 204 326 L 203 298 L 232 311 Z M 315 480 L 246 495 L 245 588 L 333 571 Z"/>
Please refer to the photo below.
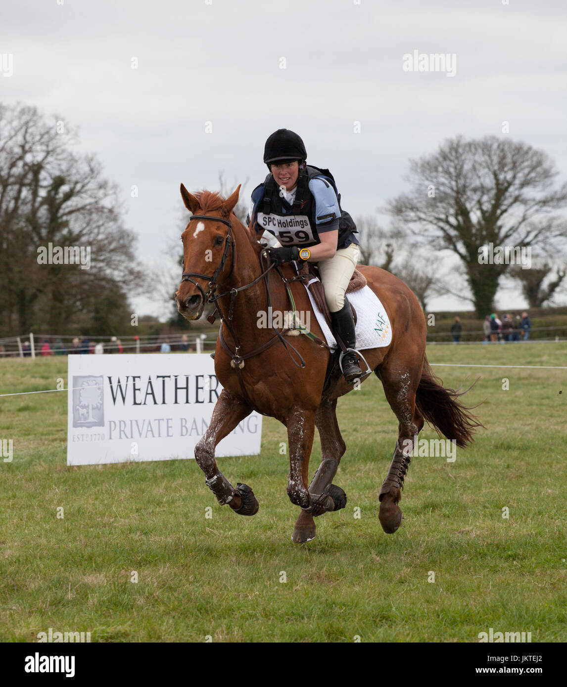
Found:
<path fill-rule="evenodd" d="M 387 401 L 398 418 L 398 441 L 394 458 L 380 490 L 378 518 L 386 534 L 394 534 L 402 522 L 398 502 L 402 497 L 405 475 L 414 449 L 414 438 L 423 427 L 423 417 L 416 408 L 416 390 L 421 379 L 421 365 L 411 370 L 392 361 L 375 370 L 382 381 Z"/>

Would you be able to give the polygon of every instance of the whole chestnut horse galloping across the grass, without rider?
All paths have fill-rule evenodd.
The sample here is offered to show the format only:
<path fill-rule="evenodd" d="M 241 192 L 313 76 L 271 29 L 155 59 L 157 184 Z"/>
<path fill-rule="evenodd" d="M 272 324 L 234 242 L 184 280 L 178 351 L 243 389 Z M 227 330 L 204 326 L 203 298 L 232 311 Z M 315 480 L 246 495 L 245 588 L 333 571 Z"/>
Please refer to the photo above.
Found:
<path fill-rule="evenodd" d="M 268 306 L 272 306 L 272 313 L 289 311 L 288 292 L 280 275 L 292 278 L 295 273 L 290 264 L 284 264 L 279 274 L 269 262 L 264 264 L 264 247 L 255 232 L 233 213 L 239 190 L 240 186 L 224 199 L 208 191 L 192 195 L 181 185 L 183 202 L 193 216 L 181 237 L 184 274 L 175 293 L 178 311 L 186 319 L 199 319 L 206 302 L 214 302 L 222 317 L 215 373 L 224 388 L 211 423 L 195 447 L 195 458 L 220 504 L 228 504 L 240 515 L 254 515 L 258 502 L 253 491 L 246 484 L 237 483 L 235 488 L 228 482 L 217 466 L 215 447 L 253 410 L 277 418 L 288 430 L 288 496 L 301 508 L 292 541 L 305 542 L 314 539 L 314 516 L 346 504 L 344 491 L 332 484 L 345 453 L 335 411 L 337 398 L 354 387 L 344 381 L 336 366 L 325 385 L 331 353 L 321 347 L 321 341 L 314 343 L 305 335 L 282 336 L 271 327 L 259 328 L 258 313 L 268 311 Z M 391 534 L 402 520 L 398 502 L 414 437 L 424 420 L 448 439 L 456 440 L 459 447 L 471 442 L 480 423 L 468 413 L 469 408 L 458 403 L 461 394 L 443 388 L 432 374 L 425 357 L 425 316 L 414 293 L 383 269 L 358 269 L 392 323 L 389 346 L 364 352 L 399 423 L 394 458 L 378 497 L 378 518 L 383 530 Z M 303 284 L 291 282 L 287 286 L 297 311 L 312 313 Z M 316 317 L 310 317 L 310 322 L 312 334 L 324 340 Z M 332 355 L 336 359 L 336 354 Z M 315 427 L 321 438 L 322 460 L 308 484 Z"/>

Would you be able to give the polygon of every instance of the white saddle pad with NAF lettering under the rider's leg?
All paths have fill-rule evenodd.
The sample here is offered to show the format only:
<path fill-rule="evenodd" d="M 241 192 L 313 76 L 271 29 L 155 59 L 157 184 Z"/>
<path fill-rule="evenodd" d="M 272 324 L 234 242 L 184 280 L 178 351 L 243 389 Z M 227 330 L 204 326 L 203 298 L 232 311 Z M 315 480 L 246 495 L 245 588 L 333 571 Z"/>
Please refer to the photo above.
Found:
<path fill-rule="evenodd" d="M 312 281 L 319 280 L 312 279 Z M 307 293 L 309 294 L 313 311 L 317 315 L 317 322 L 319 322 L 319 326 L 325 335 L 327 345 L 330 348 L 336 349 L 336 340 L 328 324 L 325 322 L 323 313 L 317 307 L 309 289 L 307 289 Z M 390 324 L 389 317 L 380 299 L 370 286 L 365 286 L 363 289 L 359 289 L 359 291 L 347 293 L 347 298 L 356 310 L 357 319 L 354 330 L 356 334 L 356 350 L 389 346 L 392 342 L 392 324 Z"/>

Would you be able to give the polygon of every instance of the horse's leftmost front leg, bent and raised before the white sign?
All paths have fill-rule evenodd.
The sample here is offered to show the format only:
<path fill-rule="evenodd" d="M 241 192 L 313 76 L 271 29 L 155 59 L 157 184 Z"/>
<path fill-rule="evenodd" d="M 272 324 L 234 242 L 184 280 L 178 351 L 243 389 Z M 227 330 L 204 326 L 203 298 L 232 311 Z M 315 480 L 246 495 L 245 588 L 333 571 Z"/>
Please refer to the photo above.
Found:
<path fill-rule="evenodd" d="M 223 389 L 211 416 L 211 423 L 203 438 L 195 446 L 195 459 L 205 473 L 205 483 L 224 506 L 228 504 L 239 515 L 255 515 L 258 512 L 257 499 L 249 486 L 228 482 L 217 466 L 215 447 L 224 437 L 246 418 L 252 409 L 239 396 Z"/>

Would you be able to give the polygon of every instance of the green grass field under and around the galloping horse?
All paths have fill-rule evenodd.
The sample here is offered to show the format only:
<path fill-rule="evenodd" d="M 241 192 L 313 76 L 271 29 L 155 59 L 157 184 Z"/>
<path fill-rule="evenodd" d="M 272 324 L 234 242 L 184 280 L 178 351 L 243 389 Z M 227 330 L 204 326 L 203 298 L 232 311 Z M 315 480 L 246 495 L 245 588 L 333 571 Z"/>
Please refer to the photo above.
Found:
<path fill-rule="evenodd" d="M 567 343 L 427 354 L 567 365 Z M 66 366 L 0 360 L 0 393 L 66 385 Z M 480 376 L 467 398 L 484 401 L 486 431 L 454 463 L 414 458 L 403 525 L 384 534 L 378 492 L 397 421 L 372 376 L 339 401 L 347 453 L 334 482 L 347 507 L 317 518 L 303 545 L 290 540 L 298 509 L 279 454 L 286 431 L 272 418 L 261 455 L 220 460 L 258 497 L 259 513 L 244 518 L 216 504 L 194 461 L 67 467 L 65 392 L 0 398 L 0 438 L 14 440 L 13 461 L 0 461 L 0 640 L 52 627 L 93 642 L 478 642 L 492 627 L 566 641 L 567 369 L 434 370 L 447 386 Z M 320 456 L 317 439 L 311 474 Z"/>

